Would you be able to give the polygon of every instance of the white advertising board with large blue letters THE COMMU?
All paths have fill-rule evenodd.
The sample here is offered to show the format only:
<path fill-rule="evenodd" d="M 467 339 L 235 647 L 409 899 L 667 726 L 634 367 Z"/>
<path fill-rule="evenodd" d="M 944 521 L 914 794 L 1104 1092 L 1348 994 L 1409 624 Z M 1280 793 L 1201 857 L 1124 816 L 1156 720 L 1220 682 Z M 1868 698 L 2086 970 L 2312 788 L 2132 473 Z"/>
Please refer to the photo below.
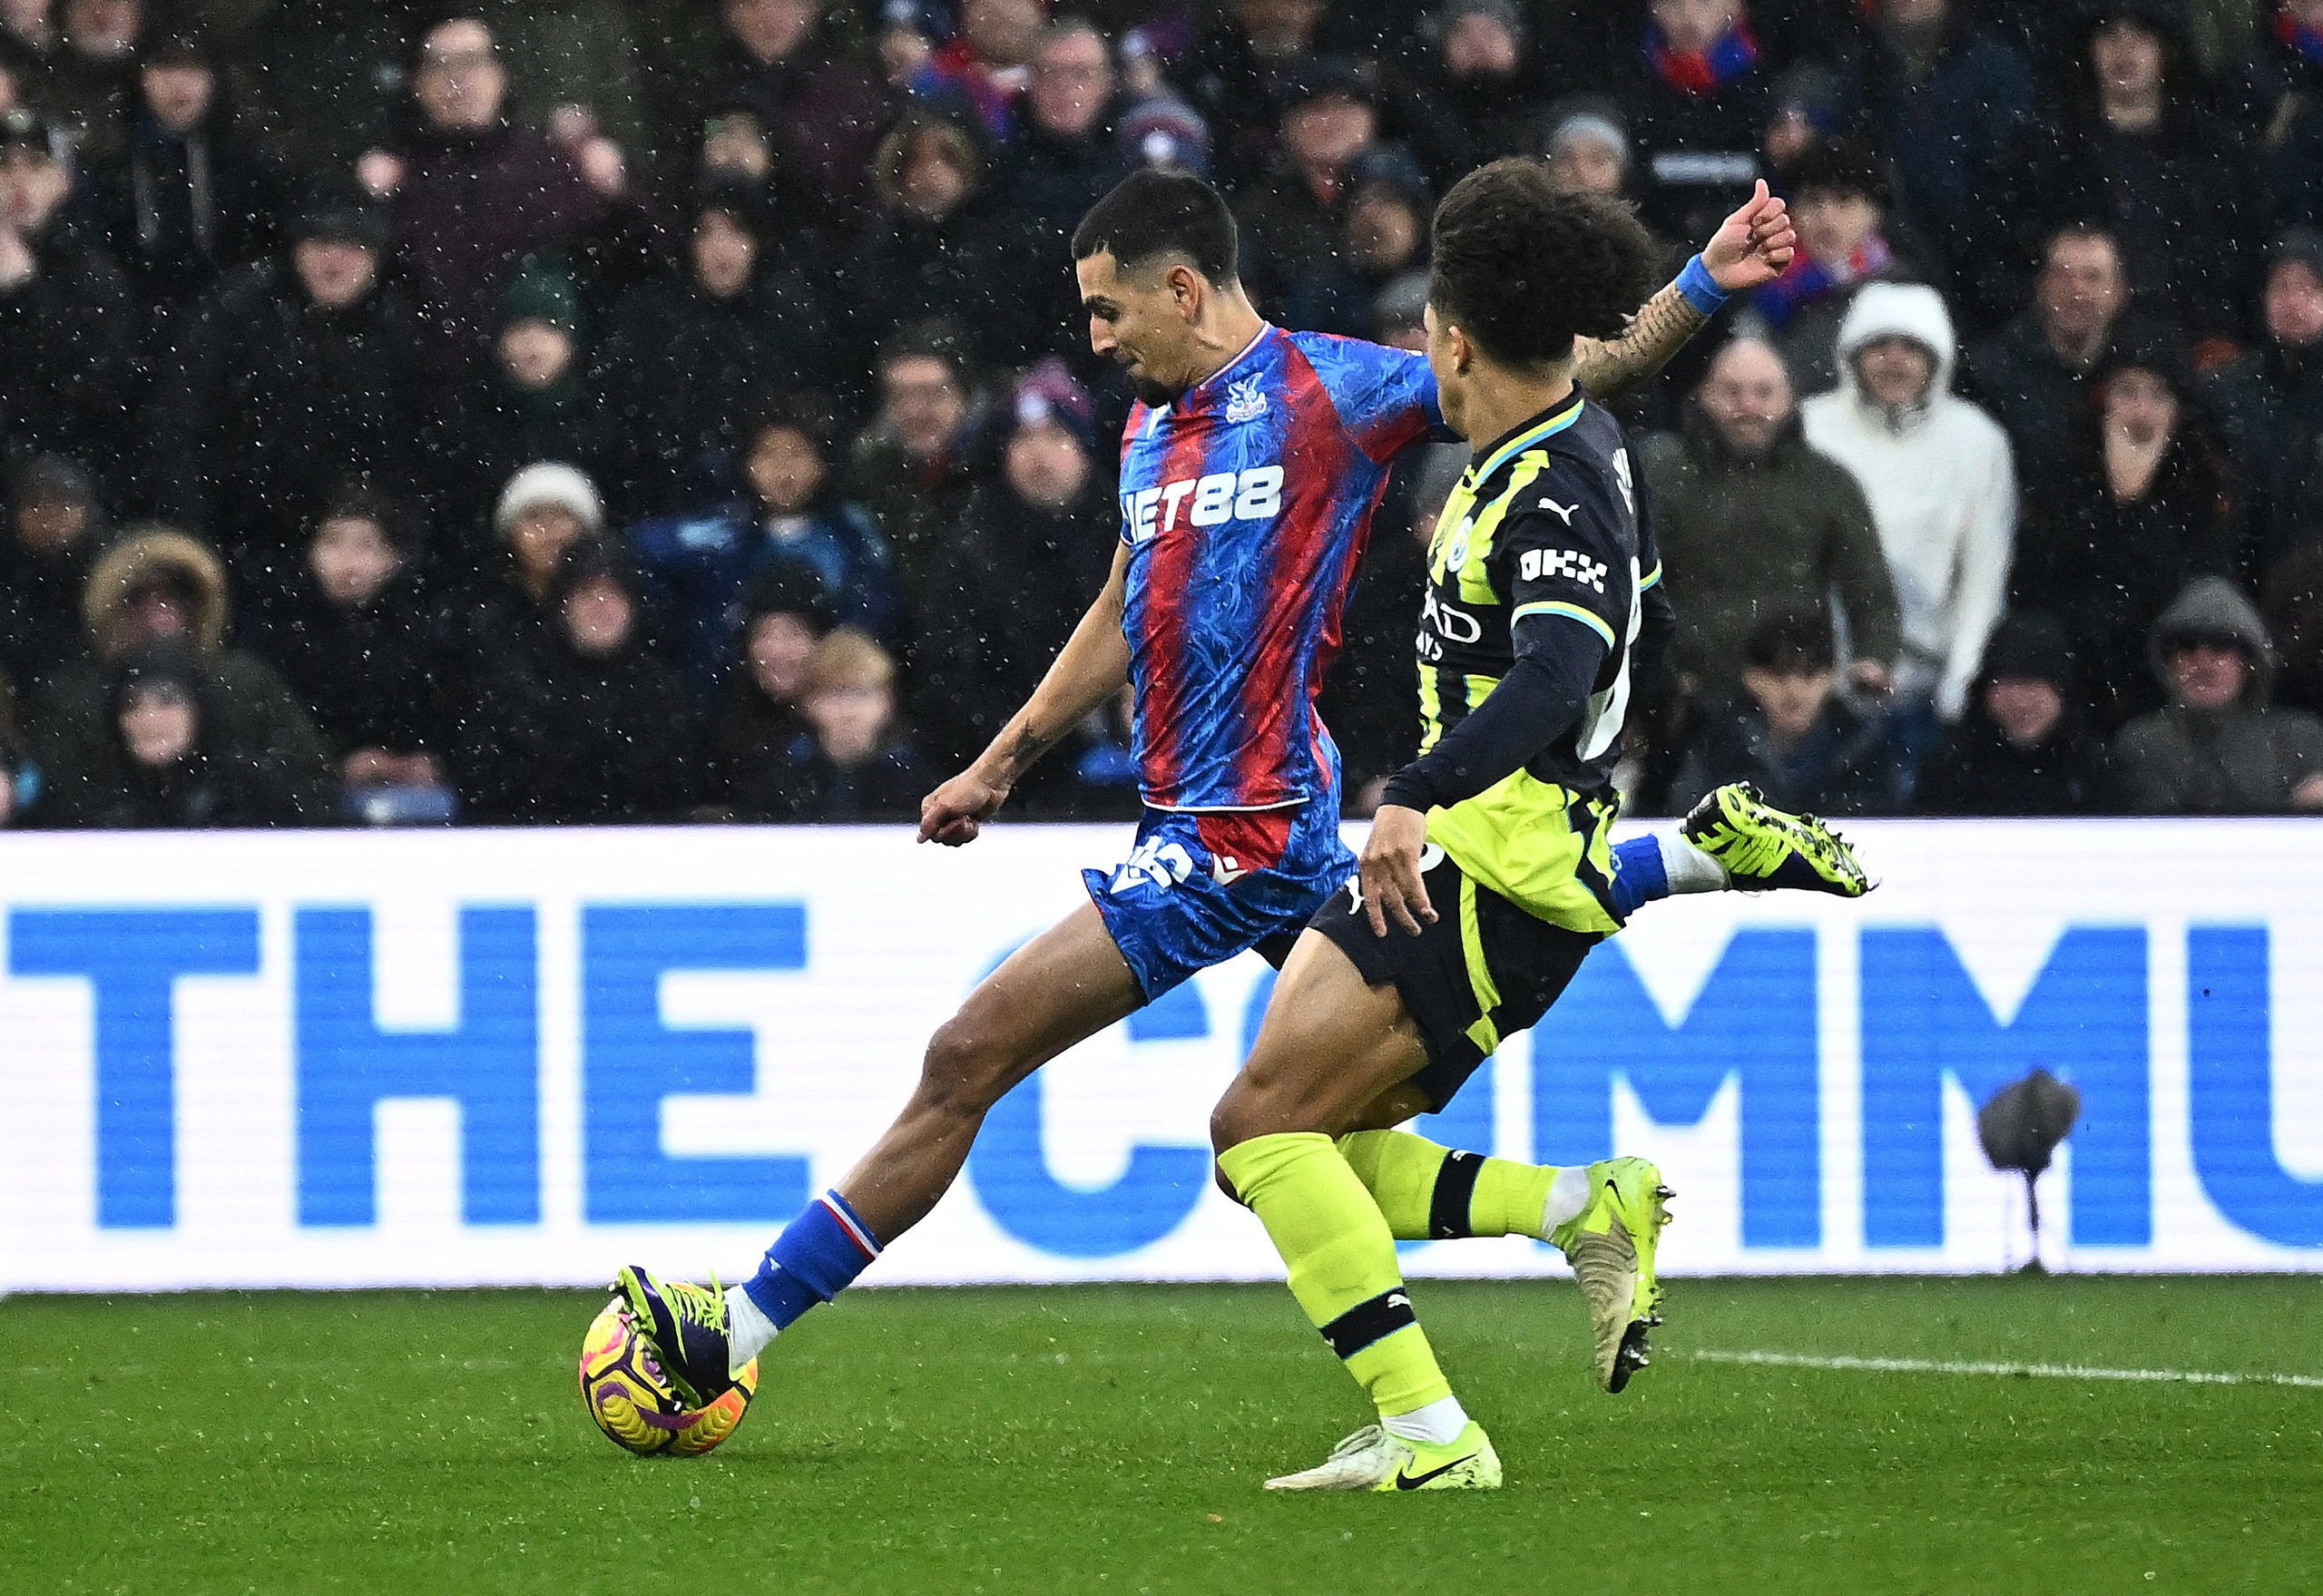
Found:
<path fill-rule="evenodd" d="M 1986 1271 L 2026 1254 L 2023 1187 L 1975 1103 L 2047 1066 L 2084 1097 L 2042 1185 L 2054 1268 L 2323 1268 L 2323 827 L 1849 834 L 1875 897 L 1645 908 L 1419 1129 L 1656 1157 L 1670 1273 Z M 0 834 L 0 1289 L 734 1278 L 1127 846 Z M 1268 985 L 1245 955 L 1050 1064 L 871 1278 L 1278 1275 L 1206 1150 Z M 1561 1261 L 1454 1241 L 1405 1268 Z"/>

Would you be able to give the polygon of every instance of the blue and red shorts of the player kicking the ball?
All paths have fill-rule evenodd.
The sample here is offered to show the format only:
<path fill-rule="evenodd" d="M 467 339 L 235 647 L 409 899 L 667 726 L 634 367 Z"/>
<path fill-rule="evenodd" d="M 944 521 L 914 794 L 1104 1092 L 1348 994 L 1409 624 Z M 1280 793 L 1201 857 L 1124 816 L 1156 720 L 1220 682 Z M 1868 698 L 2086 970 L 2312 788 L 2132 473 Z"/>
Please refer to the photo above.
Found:
<path fill-rule="evenodd" d="M 1080 871 L 1145 1001 L 1257 948 L 1271 964 L 1354 876 L 1336 804 L 1254 813 L 1148 808 L 1129 857 Z"/>

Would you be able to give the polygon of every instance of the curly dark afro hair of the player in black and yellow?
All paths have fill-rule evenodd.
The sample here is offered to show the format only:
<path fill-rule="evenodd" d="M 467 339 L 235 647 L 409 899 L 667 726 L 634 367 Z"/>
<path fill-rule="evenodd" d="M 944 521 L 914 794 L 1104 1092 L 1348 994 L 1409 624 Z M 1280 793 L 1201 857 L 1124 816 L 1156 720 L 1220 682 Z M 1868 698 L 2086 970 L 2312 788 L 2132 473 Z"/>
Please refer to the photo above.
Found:
<path fill-rule="evenodd" d="M 1477 167 L 1436 207 L 1429 304 L 1505 365 L 1610 339 L 1654 281 L 1659 251 L 1619 200 L 1559 193 L 1540 160 Z"/>

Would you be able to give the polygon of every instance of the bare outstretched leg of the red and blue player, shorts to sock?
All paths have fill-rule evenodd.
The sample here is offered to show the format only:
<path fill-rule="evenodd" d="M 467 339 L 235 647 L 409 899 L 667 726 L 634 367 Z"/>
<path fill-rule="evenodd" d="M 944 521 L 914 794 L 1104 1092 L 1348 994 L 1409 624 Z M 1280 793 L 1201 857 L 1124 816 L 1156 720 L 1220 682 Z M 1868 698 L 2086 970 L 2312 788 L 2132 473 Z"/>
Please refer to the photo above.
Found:
<path fill-rule="evenodd" d="M 936 1029 L 911 1101 L 839 1192 L 883 1243 L 894 1241 L 952 1187 L 1011 1087 L 1143 1001 L 1096 906 L 1083 904 L 1008 955 Z"/>

